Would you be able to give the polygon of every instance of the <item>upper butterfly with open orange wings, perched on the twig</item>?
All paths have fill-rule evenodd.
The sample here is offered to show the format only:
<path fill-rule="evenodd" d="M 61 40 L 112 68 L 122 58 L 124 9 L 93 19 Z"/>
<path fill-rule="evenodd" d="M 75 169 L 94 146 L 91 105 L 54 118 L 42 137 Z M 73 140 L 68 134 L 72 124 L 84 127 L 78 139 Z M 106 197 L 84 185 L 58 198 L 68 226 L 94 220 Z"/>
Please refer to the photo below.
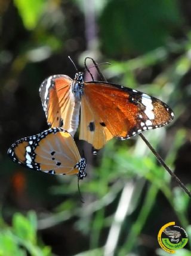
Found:
<path fill-rule="evenodd" d="M 161 100 L 115 83 L 84 82 L 78 72 L 72 80 L 58 74 L 42 82 L 39 94 L 48 125 L 63 127 L 95 150 L 111 138 L 125 140 L 148 129 L 169 124 L 174 113 Z M 95 151 L 96 152 L 96 151 Z"/>

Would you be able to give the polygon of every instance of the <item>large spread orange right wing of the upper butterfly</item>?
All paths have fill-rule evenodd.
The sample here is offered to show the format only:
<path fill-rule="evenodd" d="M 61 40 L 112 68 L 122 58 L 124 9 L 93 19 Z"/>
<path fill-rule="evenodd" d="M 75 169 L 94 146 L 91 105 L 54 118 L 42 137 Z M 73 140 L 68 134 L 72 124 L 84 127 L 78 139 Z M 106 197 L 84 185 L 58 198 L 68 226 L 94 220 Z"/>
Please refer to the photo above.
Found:
<path fill-rule="evenodd" d="M 104 82 L 84 83 L 79 138 L 100 149 L 112 137 L 126 139 L 167 125 L 172 110 L 149 95 Z"/>

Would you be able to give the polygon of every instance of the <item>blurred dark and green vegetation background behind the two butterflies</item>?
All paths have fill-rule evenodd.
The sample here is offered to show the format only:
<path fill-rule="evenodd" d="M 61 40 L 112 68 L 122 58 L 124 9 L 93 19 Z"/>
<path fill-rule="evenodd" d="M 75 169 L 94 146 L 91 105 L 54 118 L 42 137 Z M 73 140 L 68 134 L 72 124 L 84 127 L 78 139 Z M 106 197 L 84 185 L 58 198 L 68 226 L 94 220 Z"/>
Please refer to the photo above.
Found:
<path fill-rule="evenodd" d="M 172 124 L 144 135 L 191 189 L 191 2 L 0 0 L 0 37 L 0 256 L 167 255 L 157 235 L 171 221 L 190 239 L 176 255 L 190 256 L 190 199 L 140 137 L 113 139 L 93 156 L 76 134 L 88 159 L 84 204 L 76 176 L 20 167 L 7 149 L 47 129 L 42 81 L 73 78 L 67 56 L 80 71 L 90 56 L 112 64 L 100 66 L 108 81 L 171 106 Z"/>

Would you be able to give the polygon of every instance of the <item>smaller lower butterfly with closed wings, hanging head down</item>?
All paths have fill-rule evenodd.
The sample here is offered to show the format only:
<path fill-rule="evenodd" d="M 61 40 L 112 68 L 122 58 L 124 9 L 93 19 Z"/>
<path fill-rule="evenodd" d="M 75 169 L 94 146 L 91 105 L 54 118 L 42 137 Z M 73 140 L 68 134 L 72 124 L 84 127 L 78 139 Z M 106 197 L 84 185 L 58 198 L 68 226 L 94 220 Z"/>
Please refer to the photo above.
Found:
<path fill-rule="evenodd" d="M 72 135 L 63 128 L 50 128 L 37 135 L 21 138 L 8 149 L 14 162 L 50 174 L 87 176 L 86 160 L 79 155 Z"/>

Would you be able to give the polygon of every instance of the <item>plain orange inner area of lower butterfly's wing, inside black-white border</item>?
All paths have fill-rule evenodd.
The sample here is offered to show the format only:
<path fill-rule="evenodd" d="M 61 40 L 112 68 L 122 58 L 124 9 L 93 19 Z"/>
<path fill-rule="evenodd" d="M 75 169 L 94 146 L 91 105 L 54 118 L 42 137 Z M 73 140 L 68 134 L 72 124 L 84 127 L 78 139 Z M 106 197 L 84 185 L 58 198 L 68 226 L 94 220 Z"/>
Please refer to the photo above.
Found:
<path fill-rule="evenodd" d="M 54 170 L 56 174 L 76 174 L 79 171 L 74 167 L 81 157 L 68 132 L 48 134 L 45 139 L 39 141 L 34 152 L 35 162 L 40 164 L 41 170 Z"/>

